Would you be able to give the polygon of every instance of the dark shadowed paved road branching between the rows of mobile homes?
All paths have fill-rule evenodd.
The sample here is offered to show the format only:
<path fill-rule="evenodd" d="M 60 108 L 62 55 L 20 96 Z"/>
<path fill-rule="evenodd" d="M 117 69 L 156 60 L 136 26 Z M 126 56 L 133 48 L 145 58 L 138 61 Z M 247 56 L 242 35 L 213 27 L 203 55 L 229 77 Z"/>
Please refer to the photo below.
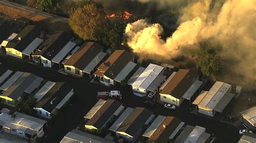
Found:
<path fill-rule="evenodd" d="M 88 83 L 86 79 L 78 80 L 73 77 L 59 74 L 53 69 L 31 65 L 30 63 L 16 60 L 8 56 L 0 55 L 0 62 L 12 70 L 30 72 L 55 82 L 65 81 L 78 91 L 78 95 L 73 99 L 72 105 L 62 111 L 60 116 L 57 117 L 56 122 L 50 127 L 50 130 L 46 131 L 48 137 L 42 138 L 39 142 L 60 141 L 66 133 L 78 126 L 79 123 L 82 123 L 85 113 L 97 102 L 96 91 L 109 89 L 109 87 L 103 85 Z M 122 93 L 123 99 L 121 102 L 125 106 L 132 108 L 135 108 L 136 106 L 145 106 L 142 98 L 136 97 L 128 92 Z M 176 116 L 188 125 L 203 126 L 206 128 L 206 132 L 213 133 L 215 137 L 217 137 L 217 142 L 237 142 L 240 138 L 238 128 L 230 124 L 221 123 L 218 117 L 210 118 L 194 115 L 184 108 L 170 111 L 164 109 L 161 104 L 157 104 L 156 107 L 151 110 L 156 115 Z"/>

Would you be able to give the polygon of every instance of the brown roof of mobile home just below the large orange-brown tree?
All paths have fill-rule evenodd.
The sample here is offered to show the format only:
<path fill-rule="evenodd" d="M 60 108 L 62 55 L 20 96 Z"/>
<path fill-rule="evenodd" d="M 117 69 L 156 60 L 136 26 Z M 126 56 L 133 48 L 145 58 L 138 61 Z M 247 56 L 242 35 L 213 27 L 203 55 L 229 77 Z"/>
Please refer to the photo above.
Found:
<path fill-rule="evenodd" d="M 97 44 L 96 42 L 84 42 L 78 51 L 65 62 L 65 65 L 83 70 L 102 50 L 103 46 Z"/>

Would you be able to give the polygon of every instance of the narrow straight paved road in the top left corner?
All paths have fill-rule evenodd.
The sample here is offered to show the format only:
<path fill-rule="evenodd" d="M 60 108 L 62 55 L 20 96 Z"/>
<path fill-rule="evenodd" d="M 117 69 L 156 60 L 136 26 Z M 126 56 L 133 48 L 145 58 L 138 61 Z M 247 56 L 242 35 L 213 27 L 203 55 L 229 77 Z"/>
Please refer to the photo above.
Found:
<path fill-rule="evenodd" d="M 42 11 L 39 11 L 37 9 L 30 8 L 29 6 L 21 5 L 21 4 L 18 4 L 18 3 L 12 3 L 12 2 L 9 2 L 7 0 L 1 0 L 0 3 L 8 5 L 8 6 L 12 6 L 12 7 L 16 8 L 16 9 L 25 10 L 25 11 L 28 11 L 28 12 L 31 12 L 31 13 L 37 13 L 37 15 L 42 15 L 42 16 L 45 16 L 45 17 L 55 18 L 55 19 L 58 19 L 58 20 L 62 20 L 63 22 L 68 22 L 67 18 L 56 16 L 56 15 L 52 15 L 51 13 L 47 13 L 47 12 L 42 12 Z"/>

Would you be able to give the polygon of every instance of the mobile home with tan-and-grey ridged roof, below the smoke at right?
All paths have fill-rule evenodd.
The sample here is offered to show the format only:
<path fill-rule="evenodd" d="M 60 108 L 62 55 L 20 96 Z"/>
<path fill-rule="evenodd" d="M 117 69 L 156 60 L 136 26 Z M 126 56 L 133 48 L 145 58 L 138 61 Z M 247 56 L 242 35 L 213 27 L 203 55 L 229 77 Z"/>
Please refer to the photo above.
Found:
<path fill-rule="evenodd" d="M 216 112 L 223 112 L 234 97 L 231 88 L 230 84 L 217 81 L 209 91 L 202 91 L 193 104 L 198 106 L 199 113 L 213 117 Z"/>

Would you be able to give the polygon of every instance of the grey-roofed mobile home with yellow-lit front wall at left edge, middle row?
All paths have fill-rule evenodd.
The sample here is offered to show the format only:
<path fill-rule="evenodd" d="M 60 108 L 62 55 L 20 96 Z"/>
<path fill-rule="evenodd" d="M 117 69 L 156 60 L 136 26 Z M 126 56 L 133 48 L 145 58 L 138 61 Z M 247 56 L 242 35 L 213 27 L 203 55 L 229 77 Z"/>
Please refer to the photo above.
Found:
<path fill-rule="evenodd" d="M 25 96 L 31 95 L 43 82 L 43 78 L 30 73 L 17 71 L 1 87 L 1 102 L 17 106 Z"/>

